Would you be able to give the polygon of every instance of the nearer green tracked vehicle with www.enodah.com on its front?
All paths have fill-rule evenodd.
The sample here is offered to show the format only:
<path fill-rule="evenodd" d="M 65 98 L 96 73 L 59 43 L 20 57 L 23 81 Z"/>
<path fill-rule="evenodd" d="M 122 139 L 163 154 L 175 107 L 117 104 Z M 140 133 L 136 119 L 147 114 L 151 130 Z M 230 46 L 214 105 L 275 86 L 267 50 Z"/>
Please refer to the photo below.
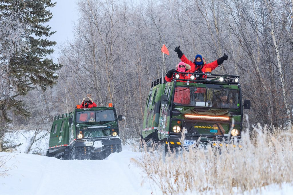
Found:
<path fill-rule="evenodd" d="M 240 139 L 243 109 L 250 108 L 250 101 L 242 103 L 239 76 L 183 73 L 190 74 L 190 80 L 184 80 L 179 74 L 174 72 L 171 82 L 158 79 L 151 84 L 141 135 L 145 143 L 161 142 L 167 151 L 168 146 L 207 149 L 218 141 Z M 203 76 L 206 80 L 196 80 Z"/>

